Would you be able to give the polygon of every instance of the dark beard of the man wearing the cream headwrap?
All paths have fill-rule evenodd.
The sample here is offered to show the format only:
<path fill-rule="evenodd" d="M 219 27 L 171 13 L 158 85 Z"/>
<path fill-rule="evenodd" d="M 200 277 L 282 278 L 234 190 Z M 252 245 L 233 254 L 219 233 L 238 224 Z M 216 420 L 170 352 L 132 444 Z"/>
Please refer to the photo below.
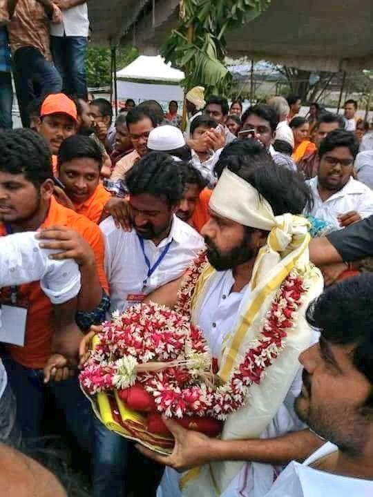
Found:
<path fill-rule="evenodd" d="M 247 231 L 245 228 L 245 235 L 242 242 L 230 251 L 225 252 L 219 251 L 209 237 L 204 237 L 204 242 L 207 245 L 207 259 L 211 266 L 216 271 L 227 271 L 253 260 L 258 255 L 259 249 L 251 246 L 251 235 L 252 231 Z"/>

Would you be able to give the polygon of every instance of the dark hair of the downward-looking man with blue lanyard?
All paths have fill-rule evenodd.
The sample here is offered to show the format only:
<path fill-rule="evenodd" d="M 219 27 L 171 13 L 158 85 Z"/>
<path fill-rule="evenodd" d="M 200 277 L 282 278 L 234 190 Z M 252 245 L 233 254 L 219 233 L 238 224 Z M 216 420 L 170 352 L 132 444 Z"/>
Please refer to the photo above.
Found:
<path fill-rule="evenodd" d="M 184 181 L 178 162 L 166 153 L 152 152 L 137 162 L 126 174 L 131 195 L 149 193 L 164 197 L 170 206 L 178 204 L 184 194 Z"/>

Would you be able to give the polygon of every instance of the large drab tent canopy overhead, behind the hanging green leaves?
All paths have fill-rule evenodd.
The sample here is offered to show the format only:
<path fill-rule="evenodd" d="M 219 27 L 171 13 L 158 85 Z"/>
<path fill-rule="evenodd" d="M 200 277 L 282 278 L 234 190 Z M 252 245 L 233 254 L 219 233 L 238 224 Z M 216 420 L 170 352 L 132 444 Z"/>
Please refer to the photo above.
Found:
<path fill-rule="evenodd" d="M 154 55 L 178 26 L 178 6 L 179 0 L 90 0 L 93 41 Z M 372 0 L 271 0 L 254 21 L 227 34 L 228 55 L 309 70 L 372 69 L 372 22 Z"/>

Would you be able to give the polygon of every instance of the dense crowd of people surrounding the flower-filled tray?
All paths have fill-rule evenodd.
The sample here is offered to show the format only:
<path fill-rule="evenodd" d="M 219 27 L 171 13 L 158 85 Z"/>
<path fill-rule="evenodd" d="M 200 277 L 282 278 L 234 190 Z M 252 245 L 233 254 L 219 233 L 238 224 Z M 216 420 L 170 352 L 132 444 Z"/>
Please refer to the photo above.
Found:
<path fill-rule="evenodd" d="M 113 122 L 109 101 L 88 99 L 86 2 L 8 0 L 0 21 L 24 126 L 12 130 L 6 53 L 4 495 L 69 491 L 25 455 L 50 431 L 82 455 L 74 467 L 93 497 L 372 495 L 373 132 L 356 119 L 356 101 L 344 116 L 316 103 L 300 116 L 296 95 L 244 110 L 198 86 L 183 130 L 175 101 L 164 113 L 155 100 L 128 99 Z M 175 448 L 161 456 L 104 426 L 79 366 L 91 327 L 113 311 L 149 300 L 172 309 L 204 249 L 209 271 L 193 290 L 192 318 L 220 364 L 231 340 L 240 353 L 255 342 L 268 299 L 300 267 L 306 295 L 222 439 L 165 418 Z"/>

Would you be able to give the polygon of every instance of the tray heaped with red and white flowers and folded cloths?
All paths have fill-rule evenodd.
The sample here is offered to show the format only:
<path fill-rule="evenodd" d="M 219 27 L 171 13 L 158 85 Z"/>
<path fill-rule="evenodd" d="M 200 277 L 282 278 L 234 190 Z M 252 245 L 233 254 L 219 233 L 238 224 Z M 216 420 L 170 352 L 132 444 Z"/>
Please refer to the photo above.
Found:
<path fill-rule="evenodd" d="M 212 363 L 202 333 L 185 316 L 137 304 L 104 323 L 79 379 L 108 429 L 167 453 L 173 438 L 162 413 L 188 429 L 220 433 L 221 421 L 198 397 L 206 384 L 213 389 Z"/>

